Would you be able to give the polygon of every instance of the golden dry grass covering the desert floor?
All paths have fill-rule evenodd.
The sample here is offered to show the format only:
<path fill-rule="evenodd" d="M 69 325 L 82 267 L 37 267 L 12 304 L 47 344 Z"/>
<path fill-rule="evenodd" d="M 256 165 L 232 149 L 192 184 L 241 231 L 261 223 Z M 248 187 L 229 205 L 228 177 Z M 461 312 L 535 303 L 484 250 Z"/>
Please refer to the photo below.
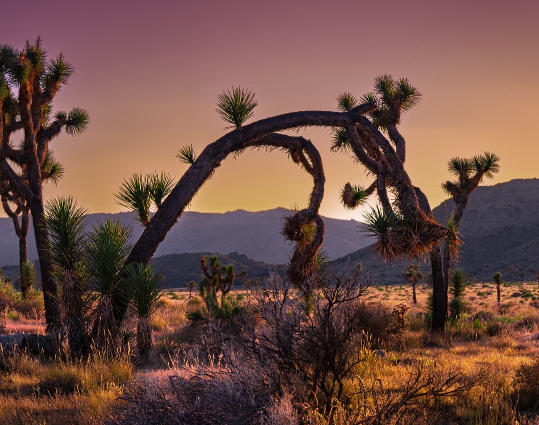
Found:
<path fill-rule="evenodd" d="M 533 403 L 535 399 L 530 398 L 530 394 L 536 391 L 533 387 L 535 375 L 531 371 L 538 368 L 536 359 L 539 358 L 537 285 L 504 285 L 500 305 L 496 302 L 493 283 L 470 285 L 465 294 L 468 302 L 466 313 L 449 323 L 445 335 L 441 337 L 427 331 L 423 313 L 429 291 L 430 288 L 418 285 L 418 303 L 413 305 L 411 287 L 404 283 L 368 290 L 363 297 L 365 309 L 378 311 L 372 317 L 376 316 L 380 321 L 378 325 L 372 324 L 374 329 L 377 326 L 379 329 L 379 324 L 386 322 L 388 310 L 390 313 L 399 302 L 411 304 L 412 309 L 405 316 L 403 331 L 382 332 L 377 337 L 379 341 L 367 356 L 368 361 L 356 368 L 356 378 L 345 382 L 345 391 L 348 394 L 363 391 L 363 403 L 371 403 L 374 399 L 365 395 L 365 388 L 369 382 L 375 382 L 384 391 L 368 394 L 377 394 L 379 400 L 389 400 L 402 392 L 411 373 L 421 366 L 424 368 L 423 376 L 427 372 L 434 373 L 438 377 L 436 379 L 440 379 L 451 371 L 457 371 L 466 379 L 476 378 L 478 385 L 467 388 L 458 398 L 427 397 L 419 400 L 413 415 L 410 413 L 414 423 L 515 423 L 519 415 L 538 415 L 539 408 Z M 515 292 L 520 295 L 512 297 Z M 243 299 L 245 292 L 232 291 L 229 297 Z M 379 306 L 380 302 L 385 307 Z M 234 374 L 231 373 L 231 364 L 238 357 L 232 356 L 233 350 L 230 351 L 227 345 L 230 329 L 223 325 L 216 328 L 215 323 L 186 319 L 186 313 L 197 312 L 202 307 L 203 302 L 197 296 L 188 300 L 185 292 L 169 292 L 163 308 L 151 319 L 154 348 L 150 361 L 134 371 L 132 362 L 126 357 L 71 363 L 69 360 L 46 361 L 18 353 L 18 357 L 12 357 L 11 363 L 8 361 L 8 371 L 0 374 L 0 423 L 107 422 L 121 405 L 121 401 L 116 401 L 121 394 L 127 398 L 142 397 L 148 402 L 164 403 L 163 406 L 171 406 L 170 409 L 178 414 L 178 394 L 171 385 L 170 376 L 178 377 L 174 378 L 176 388 L 180 388 L 178 379 L 181 378 L 182 390 L 200 390 L 200 402 L 215 402 L 217 399 L 214 398 L 229 397 L 232 407 L 234 403 L 247 403 L 243 399 L 231 398 L 230 392 L 239 394 L 236 396 L 241 398 L 241 394 L 244 394 L 242 391 L 251 388 L 251 393 L 245 394 L 253 396 L 253 388 L 261 391 L 263 386 L 247 370 L 239 373 L 236 368 Z M 8 318 L 6 313 L 7 333 L 38 333 L 44 330 L 43 322 L 37 317 L 21 313 L 15 319 Z M 134 329 L 135 318 L 128 317 L 126 325 Z M 384 350 L 383 358 L 375 354 L 374 349 L 378 348 Z M 186 364 L 190 356 L 191 359 L 195 356 L 202 363 L 191 361 L 189 365 Z M 227 364 L 227 361 L 231 363 Z M 482 379 L 481 374 L 488 379 Z M 209 380 L 201 381 L 201 377 Z M 128 387 L 125 386 L 126 382 Z M 316 406 L 298 405 L 295 402 L 293 389 L 284 391 L 280 396 L 262 392 L 256 394 L 259 394 L 257 403 L 261 404 L 255 403 L 253 406 L 258 406 L 262 412 L 256 419 L 258 423 L 297 423 L 292 421 L 293 417 L 302 417 L 303 421 L 308 419 L 308 423 L 325 423 L 317 413 Z M 247 395 L 245 397 L 248 398 Z M 230 400 L 236 401 L 232 403 Z M 361 404 L 358 400 L 354 403 L 356 408 Z M 250 405 L 247 403 L 245 406 Z M 141 405 L 138 408 L 150 407 Z M 226 405 L 222 408 L 225 409 Z M 182 415 L 194 414 L 184 407 L 182 409 Z M 350 420 L 350 416 L 347 416 L 349 410 L 350 406 L 335 405 L 334 423 L 347 423 Z M 412 416 L 407 419 L 411 420 Z M 537 419 L 523 416 L 519 419 L 519 423 L 538 422 Z M 121 422 L 113 420 L 112 423 Z M 388 420 L 388 423 L 391 421 Z"/>

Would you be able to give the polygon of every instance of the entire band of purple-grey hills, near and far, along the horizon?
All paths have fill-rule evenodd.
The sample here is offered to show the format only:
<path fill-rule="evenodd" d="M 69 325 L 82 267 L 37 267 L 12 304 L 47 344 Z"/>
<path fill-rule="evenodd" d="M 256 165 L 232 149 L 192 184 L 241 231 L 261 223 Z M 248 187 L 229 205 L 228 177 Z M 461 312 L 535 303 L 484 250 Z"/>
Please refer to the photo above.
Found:
<path fill-rule="evenodd" d="M 453 201 L 447 200 L 434 208 L 434 215 L 446 222 L 453 211 Z M 494 186 L 476 189 L 468 203 L 460 225 L 464 242 L 458 267 L 469 277 L 491 280 L 501 271 L 506 281 L 532 280 L 539 269 L 539 179 L 517 179 Z M 291 213 L 285 208 L 224 214 L 186 212 L 171 229 L 157 249 L 152 262 L 164 275 L 167 287 L 182 287 L 189 280 L 199 280 L 201 253 L 219 254 L 222 264 L 233 263 L 237 271 L 248 270 L 248 276 L 264 276 L 267 270 L 277 269 L 284 274 L 282 264 L 288 262 L 292 247 L 280 234 L 281 220 Z M 89 214 L 89 225 L 106 216 L 128 222 L 134 227 L 134 240 L 142 233 L 131 213 Z M 358 233 L 359 222 L 324 218 L 326 239 L 324 249 L 337 270 L 357 263 L 377 276 L 378 283 L 402 282 L 402 271 L 409 261 L 384 264 L 368 246 L 372 239 Z M 0 219 L 0 264 L 17 264 L 17 239 L 10 219 Z M 36 259 L 33 234 L 29 238 L 29 256 Z M 180 253 L 180 254 L 176 254 Z M 183 254 L 182 254 L 183 253 Z M 239 254 L 238 254 L 239 253 Z M 176 254 L 176 255 L 173 255 Z M 273 266 L 272 264 L 281 264 Z M 508 268 L 518 271 L 509 273 Z M 421 267 L 429 270 L 428 264 Z M 17 267 L 4 267 L 7 276 L 18 275 Z"/>

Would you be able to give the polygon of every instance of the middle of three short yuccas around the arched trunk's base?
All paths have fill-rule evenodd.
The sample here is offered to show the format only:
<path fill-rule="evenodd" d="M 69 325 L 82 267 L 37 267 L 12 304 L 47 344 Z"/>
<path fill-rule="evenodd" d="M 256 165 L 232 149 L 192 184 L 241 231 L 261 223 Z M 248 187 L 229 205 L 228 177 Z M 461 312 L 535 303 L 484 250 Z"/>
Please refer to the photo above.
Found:
<path fill-rule="evenodd" d="M 118 289 L 123 284 L 123 266 L 131 249 L 131 234 L 132 229 L 119 220 L 105 219 L 105 222 L 98 222 L 88 235 L 89 283 L 98 298 L 92 313 L 92 336 L 98 346 L 108 343 L 118 331 L 112 301 L 114 292 L 121 292 L 126 298 L 130 296 L 127 288 Z"/>

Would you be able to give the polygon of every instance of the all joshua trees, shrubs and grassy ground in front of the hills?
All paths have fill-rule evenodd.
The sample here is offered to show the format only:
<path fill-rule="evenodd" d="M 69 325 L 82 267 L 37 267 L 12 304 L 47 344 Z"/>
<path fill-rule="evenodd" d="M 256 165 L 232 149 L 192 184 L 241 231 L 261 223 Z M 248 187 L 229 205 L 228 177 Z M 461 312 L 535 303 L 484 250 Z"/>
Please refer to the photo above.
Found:
<path fill-rule="evenodd" d="M 421 97 L 409 80 L 378 76 L 359 99 L 338 95 L 338 112 L 253 123 L 254 93 L 224 92 L 217 113 L 231 131 L 199 155 L 180 148 L 188 169 L 178 182 L 154 171 L 121 184 L 116 200 L 143 226 L 131 246 L 132 229 L 120 222 L 88 230 L 74 197 L 43 199 L 43 184 L 61 174 L 49 143 L 89 122 L 80 108 L 50 118 L 72 66 L 61 54 L 47 61 L 38 38 L 21 51 L 2 46 L 0 69 L 2 200 L 21 246 L 31 212 L 41 273 L 34 289 L 21 248 L 23 291 L 0 281 L 2 423 L 539 422 L 535 283 L 503 283 L 496 274 L 494 297 L 492 283 L 467 282 L 451 268 L 468 198 L 500 159 L 451 159 L 457 180 L 443 189 L 456 206 L 447 225 L 434 219 L 404 166 L 398 126 Z M 354 209 L 376 195 L 362 231 L 377 237 L 383 259 L 418 260 L 403 274 L 411 287 L 385 285 L 361 264 L 342 274 L 327 266 L 319 150 L 278 133 L 308 126 L 328 128 L 330 149 L 351 152 L 371 176 L 368 187 L 346 183 L 342 204 Z M 24 142 L 14 148 L 17 131 Z M 313 180 L 307 207 L 283 219 L 282 235 L 294 245 L 286 275 L 254 281 L 203 256 L 198 295 L 195 282 L 188 293 L 164 292 L 151 256 L 220 163 L 248 148 L 281 150 Z M 431 274 L 418 287 L 420 261 Z M 235 280 L 243 289 L 233 289 Z"/>

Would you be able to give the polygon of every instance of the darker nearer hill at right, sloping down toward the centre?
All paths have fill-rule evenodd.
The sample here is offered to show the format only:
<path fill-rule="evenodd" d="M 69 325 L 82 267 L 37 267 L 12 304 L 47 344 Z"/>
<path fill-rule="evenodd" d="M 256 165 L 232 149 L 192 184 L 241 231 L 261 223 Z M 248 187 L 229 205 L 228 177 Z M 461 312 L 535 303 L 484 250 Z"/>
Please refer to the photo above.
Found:
<path fill-rule="evenodd" d="M 444 224 L 454 203 L 446 200 L 434 208 L 434 216 Z M 469 277 L 492 280 L 501 271 L 504 280 L 533 280 L 539 269 L 539 179 L 516 179 L 494 186 L 480 186 L 470 197 L 460 224 L 461 247 L 458 267 Z M 383 264 L 372 246 L 332 262 L 344 265 L 361 262 L 381 283 L 402 282 L 408 261 Z M 509 273 L 516 268 L 517 273 Z M 428 264 L 421 267 L 429 270 Z"/>

